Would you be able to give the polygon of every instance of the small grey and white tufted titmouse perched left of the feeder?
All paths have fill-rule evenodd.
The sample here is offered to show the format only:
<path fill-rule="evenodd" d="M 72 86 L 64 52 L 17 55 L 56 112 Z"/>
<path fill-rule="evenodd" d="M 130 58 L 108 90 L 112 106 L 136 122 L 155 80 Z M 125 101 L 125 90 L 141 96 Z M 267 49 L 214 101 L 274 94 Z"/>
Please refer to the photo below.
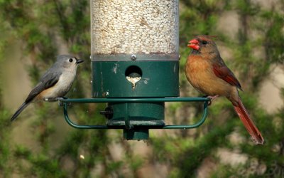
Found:
<path fill-rule="evenodd" d="M 56 62 L 40 78 L 40 82 L 28 94 L 25 102 L 11 117 L 11 121 L 25 109 L 34 99 L 56 101 L 70 90 L 75 79 L 77 66 L 83 61 L 70 55 L 58 56 Z"/>

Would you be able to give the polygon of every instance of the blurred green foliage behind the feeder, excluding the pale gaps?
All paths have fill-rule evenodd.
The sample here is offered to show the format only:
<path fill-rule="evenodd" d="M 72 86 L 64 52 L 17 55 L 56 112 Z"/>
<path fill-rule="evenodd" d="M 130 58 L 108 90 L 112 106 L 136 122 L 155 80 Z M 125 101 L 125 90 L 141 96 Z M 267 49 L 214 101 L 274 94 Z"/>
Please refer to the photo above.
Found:
<path fill-rule="evenodd" d="M 0 175 L 12 177 L 16 173 L 21 177 L 92 177 L 95 167 L 104 167 L 100 177 L 129 177 L 123 172 L 125 167 L 129 167 L 131 177 L 139 177 L 138 169 L 143 167 L 143 164 L 158 162 L 167 165 L 168 177 L 196 177 L 197 169 L 209 158 L 217 165 L 211 177 L 284 177 L 284 110 L 282 108 L 278 112 L 268 114 L 258 105 L 258 90 L 263 80 L 271 73 L 271 66 L 283 65 L 283 11 L 276 11 L 276 7 L 263 9 L 260 4 L 249 0 L 181 0 L 180 4 L 181 92 L 200 95 L 190 88 L 184 75 L 185 60 L 190 52 L 186 48 L 187 41 L 198 34 L 218 36 L 217 44 L 231 49 L 234 58 L 227 64 L 233 71 L 238 71 L 239 80 L 245 88 L 241 98 L 262 131 L 266 139 L 265 145 L 258 147 L 249 144 L 249 135 L 234 114 L 231 103 L 219 99 L 210 107 L 209 117 L 204 125 L 194 132 L 181 130 L 175 132 L 175 136 L 151 135 L 148 145 L 153 148 L 153 157 L 148 159 L 138 157 L 131 144 L 121 140 L 121 132 L 118 137 L 114 137 L 108 134 L 109 131 L 102 130 L 71 130 L 60 147 L 50 152 L 53 144 L 50 135 L 55 132 L 55 123 L 51 118 L 62 115 L 62 110 L 43 103 L 35 105 L 36 121 L 31 124 L 34 139 L 40 145 L 38 152 L 33 152 L 23 145 L 11 148 L 13 125 L 9 123 L 9 116 L 12 111 L 0 103 Z M 277 6 L 284 7 L 284 1 L 278 1 Z M 239 16 L 241 25 L 235 37 L 217 28 L 220 16 L 228 11 L 234 11 Z M 0 0 L 0 62 L 6 60 L 5 55 L 13 43 L 21 41 L 23 56 L 31 58 L 28 73 L 35 84 L 40 77 L 40 71 L 55 61 L 58 54 L 58 36 L 63 39 L 62 43 L 65 43 L 70 53 L 80 58 L 89 58 L 89 23 L 87 0 Z M 261 50 L 265 56 L 255 56 L 253 51 L 256 49 Z M 4 75 L 2 71 L 0 73 Z M 73 85 L 76 90 L 70 92 L 70 98 L 85 97 L 90 73 L 89 63 L 83 63 Z M 3 87 L 0 80 L 1 100 Z M 78 105 L 72 115 L 77 117 L 80 123 L 104 122 L 97 113 L 97 110 L 102 110 L 103 107 Z M 194 112 L 195 118 L 200 117 L 201 111 L 200 105 L 181 103 L 171 104 L 168 109 L 173 118 L 178 112 L 184 112 L 181 114 L 185 117 L 182 122 L 192 121 L 187 118 L 187 110 Z M 275 120 L 278 120 L 277 125 Z M 244 142 L 235 144 L 230 141 L 229 135 L 234 130 L 239 131 Z M 111 142 L 123 146 L 123 159 L 111 159 Z M 237 149 L 249 155 L 249 162 L 239 167 L 223 164 L 216 156 L 219 147 Z M 82 150 L 87 155 L 85 159 L 79 159 Z M 251 170 L 251 158 L 257 159 L 258 164 L 264 164 L 265 171 L 259 173 Z M 62 162 L 65 159 L 71 159 L 74 169 L 64 168 Z"/>

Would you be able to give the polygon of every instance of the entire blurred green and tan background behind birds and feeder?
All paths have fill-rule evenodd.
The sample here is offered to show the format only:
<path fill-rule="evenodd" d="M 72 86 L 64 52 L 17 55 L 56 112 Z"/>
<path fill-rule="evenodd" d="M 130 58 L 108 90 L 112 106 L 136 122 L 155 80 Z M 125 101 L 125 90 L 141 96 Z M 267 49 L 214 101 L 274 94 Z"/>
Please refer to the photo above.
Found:
<path fill-rule="evenodd" d="M 151 130 L 123 140 L 121 130 L 75 130 L 58 103 L 33 103 L 10 123 L 55 56 L 85 60 L 69 98 L 91 97 L 89 1 L 0 1 L 0 177 L 284 177 L 284 1 L 180 0 L 180 95 L 187 82 L 187 41 L 216 43 L 244 92 L 241 98 L 266 142 L 254 145 L 226 98 L 214 100 L 201 127 Z M 81 124 L 104 123 L 104 105 L 72 105 Z M 197 103 L 166 104 L 165 121 L 193 123 Z"/>

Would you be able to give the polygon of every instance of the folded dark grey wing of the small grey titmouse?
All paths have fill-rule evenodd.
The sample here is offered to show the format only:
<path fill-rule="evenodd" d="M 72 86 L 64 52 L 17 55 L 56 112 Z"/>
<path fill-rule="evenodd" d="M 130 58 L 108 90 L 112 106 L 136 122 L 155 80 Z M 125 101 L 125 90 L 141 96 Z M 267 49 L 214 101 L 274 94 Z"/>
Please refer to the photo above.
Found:
<path fill-rule="evenodd" d="M 31 90 L 31 93 L 28 95 L 28 98 L 26 98 L 25 103 L 31 102 L 31 100 L 33 100 L 33 98 L 35 98 L 35 96 L 37 96 L 43 90 L 48 89 L 58 83 L 61 74 L 62 73 L 59 72 L 53 73 L 52 70 L 45 73 L 40 79 L 40 83 L 38 83 L 38 85 L 35 85 L 35 88 Z"/>

